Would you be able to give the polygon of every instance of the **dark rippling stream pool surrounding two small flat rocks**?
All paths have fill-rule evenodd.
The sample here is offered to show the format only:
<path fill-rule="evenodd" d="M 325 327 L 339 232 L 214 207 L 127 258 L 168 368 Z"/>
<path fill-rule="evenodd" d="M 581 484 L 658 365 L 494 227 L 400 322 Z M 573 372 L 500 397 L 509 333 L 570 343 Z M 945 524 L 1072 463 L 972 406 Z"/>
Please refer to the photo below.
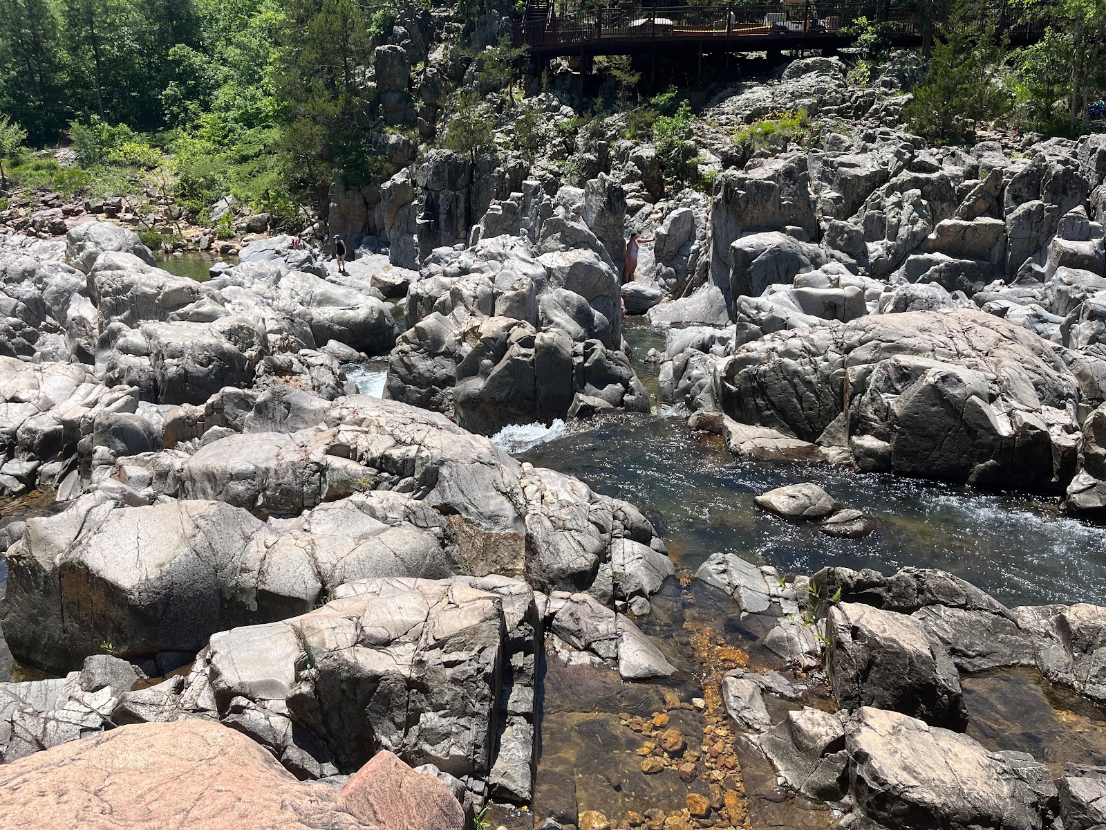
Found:
<path fill-rule="evenodd" d="M 637 505 L 674 559 L 695 570 L 714 551 L 782 572 L 826 564 L 893 572 L 940 568 L 1009 605 L 1106 603 L 1102 528 L 1057 515 L 1054 499 L 975 494 L 889 475 L 816 464 L 738 461 L 680 418 L 619 414 L 521 454 Z M 814 481 L 877 520 L 865 539 L 832 539 L 812 525 L 757 510 L 758 494 Z"/>

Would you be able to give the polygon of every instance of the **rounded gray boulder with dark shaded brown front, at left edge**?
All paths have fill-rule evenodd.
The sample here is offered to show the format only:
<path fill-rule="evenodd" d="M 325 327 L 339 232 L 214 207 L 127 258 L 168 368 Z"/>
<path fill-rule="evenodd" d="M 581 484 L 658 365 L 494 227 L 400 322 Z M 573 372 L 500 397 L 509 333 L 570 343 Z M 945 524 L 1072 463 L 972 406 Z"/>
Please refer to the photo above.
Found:
<path fill-rule="evenodd" d="M 244 510 L 86 498 L 32 519 L 8 551 L 4 635 L 32 665 L 80 665 L 103 644 L 127 657 L 196 652 L 219 629 L 303 613 L 319 595 L 309 562 L 267 559 L 275 535 Z"/>

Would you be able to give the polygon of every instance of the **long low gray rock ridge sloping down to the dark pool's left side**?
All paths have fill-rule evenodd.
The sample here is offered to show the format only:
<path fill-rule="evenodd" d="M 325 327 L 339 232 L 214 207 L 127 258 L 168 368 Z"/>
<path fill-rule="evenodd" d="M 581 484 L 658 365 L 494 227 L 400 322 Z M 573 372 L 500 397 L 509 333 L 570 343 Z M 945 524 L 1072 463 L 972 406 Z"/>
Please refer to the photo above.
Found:
<path fill-rule="evenodd" d="M 121 458 L 111 478 L 132 481 L 131 498 L 217 500 L 264 516 L 326 511 L 336 508 L 316 506 L 351 495 L 361 505 L 363 498 L 383 498 L 379 491 L 398 491 L 405 504 L 410 500 L 403 516 L 424 528 L 448 527 L 467 572 L 525 577 L 542 590 L 597 585 L 608 599 L 629 600 L 655 592 L 671 573 L 662 542 L 630 505 L 598 496 L 571 476 L 519 464 L 442 415 L 371 396 L 326 405 L 306 393 L 268 392 L 252 396 L 252 409 L 243 413 L 240 406 L 247 402 L 232 400 L 228 393 L 233 392 L 223 391 L 209 402 L 207 413 L 196 414 L 204 423 L 188 427 L 180 419 L 185 413 L 174 418 L 174 429 L 187 427 L 189 435 L 205 436 L 191 455 L 167 449 Z M 294 405 L 313 425 L 296 432 L 250 432 L 300 426 L 300 415 L 273 413 L 284 405 Z M 220 437 L 208 442 L 209 430 Z M 362 492 L 367 495 L 354 495 Z M 416 507 L 430 512 L 408 516 Z M 377 512 L 371 515 L 384 521 Z M 307 542 L 296 544 L 312 550 Z M 403 551 L 392 548 L 396 561 L 405 561 Z M 410 554 L 421 550 L 413 544 Z M 399 575 L 441 575 L 427 570 L 431 559 L 434 567 L 457 561 L 451 553 L 419 559 L 424 570 L 400 569 Z M 448 567 L 458 572 L 456 564 Z"/>

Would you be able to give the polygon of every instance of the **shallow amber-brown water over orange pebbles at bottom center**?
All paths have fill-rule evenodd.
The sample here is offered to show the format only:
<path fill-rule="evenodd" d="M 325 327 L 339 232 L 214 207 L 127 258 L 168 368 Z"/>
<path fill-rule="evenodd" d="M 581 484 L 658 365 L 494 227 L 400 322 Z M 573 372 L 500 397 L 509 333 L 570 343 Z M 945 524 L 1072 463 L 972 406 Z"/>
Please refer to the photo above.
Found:
<path fill-rule="evenodd" d="M 758 761 L 747 757 L 718 693 L 721 674 L 728 667 L 782 670 L 800 695 L 794 701 L 766 696 L 771 714 L 782 719 L 789 709 L 803 705 L 830 705 L 825 686 L 796 677 L 783 661 L 763 649 L 749 649 L 745 654 L 745 646 L 753 643 L 731 635 L 737 609 L 718 589 L 703 582 L 669 579 L 650 602 L 653 613 L 636 622 L 676 666 L 671 679 L 623 683 L 614 670 L 566 666 L 546 652 L 542 663 L 533 826 L 539 827 L 547 816 L 564 824 L 576 824 L 581 812 L 597 810 L 612 827 L 625 827 L 620 822 L 630 811 L 643 815 L 659 809 L 671 813 L 685 807 L 688 793 L 709 797 L 713 786 L 721 792 L 738 791 L 740 810 L 744 809 L 744 796 L 750 796 L 750 817 L 759 819 L 753 827 L 831 827 L 826 811 L 810 809 L 775 790 L 774 772 L 763 759 L 759 769 L 772 779 L 769 789 L 774 797 L 763 803 L 752 798 L 745 776 L 747 770 L 758 769 Z M 721 651 L 718 646 L 723 642 L 739 645 L 740 650 Z M 650 722 L 647 728 L 656 728 L 643 733 L 641 719 Z M 659 772 L 646 775 L 645 755 L 662 729 L 679 732 L 686 750 L 674 755 L 674 761 Z M 709 753 L 719 760 L 711 760 L 714 755 L 708 757 Z M 742 758 L 739 764 L 723 762 L 727 757 L 735 760 L 738 756 Z M 691 765 L 693 775 L 685 778 L 674 768 L 684 764 Z M 730 827 L 722 811 L 712 816 L 717 827 Z M 518 816 L 497 813 L 493 818 L 509 828 L 530 827 Z"/>

